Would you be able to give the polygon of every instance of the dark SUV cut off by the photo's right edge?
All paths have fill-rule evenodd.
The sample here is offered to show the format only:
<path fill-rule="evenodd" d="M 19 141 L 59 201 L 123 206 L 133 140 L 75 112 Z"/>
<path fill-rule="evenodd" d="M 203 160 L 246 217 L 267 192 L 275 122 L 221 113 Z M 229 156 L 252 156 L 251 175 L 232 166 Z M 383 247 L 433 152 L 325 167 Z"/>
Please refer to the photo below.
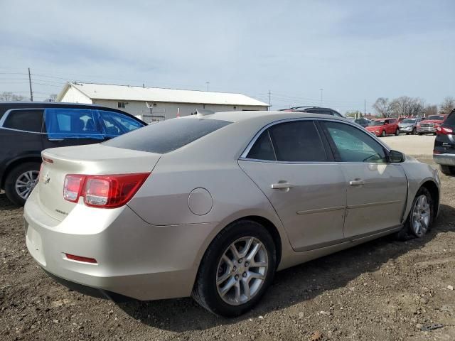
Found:
<path fill-rule="evenodd" d="M 441 172 L 455 175 L 455 109 L 436 129 L 433 160 L 439 163 Z"/>

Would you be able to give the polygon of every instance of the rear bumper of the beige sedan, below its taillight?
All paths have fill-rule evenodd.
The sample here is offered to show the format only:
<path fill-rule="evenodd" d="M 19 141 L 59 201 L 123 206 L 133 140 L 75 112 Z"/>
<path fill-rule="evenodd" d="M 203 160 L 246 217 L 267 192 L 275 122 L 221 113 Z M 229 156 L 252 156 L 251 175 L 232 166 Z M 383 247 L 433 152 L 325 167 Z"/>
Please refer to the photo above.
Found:
<path fill-rule="evenodd" d="M 191 295 L 203 232 L 215 223 L 154 226 L 128 206 L 102 210 L 85 205 L 76 205 L 60 222 L 40 209 L 37 197 L 33 190 L 24 208 L 27 249 L 66 286 L 88 287 L 92 296 L 99 291 L 109 298 L 112 293 L 139 300 Z M 94 258 L 97 264 L 65 254 Z"/>

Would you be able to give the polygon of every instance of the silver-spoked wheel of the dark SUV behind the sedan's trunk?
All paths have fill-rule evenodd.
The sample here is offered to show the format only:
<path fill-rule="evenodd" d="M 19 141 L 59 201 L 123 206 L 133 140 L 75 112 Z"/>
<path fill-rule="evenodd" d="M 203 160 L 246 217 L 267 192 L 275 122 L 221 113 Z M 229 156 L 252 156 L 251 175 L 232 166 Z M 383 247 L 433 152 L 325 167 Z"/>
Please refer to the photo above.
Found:
<path fill-rule="evenodd" d="M 23 206 L 36 183 L 40 163 L 26 162 L 13 168 L 5 180 L 5 193 L 11 202 Z"/>

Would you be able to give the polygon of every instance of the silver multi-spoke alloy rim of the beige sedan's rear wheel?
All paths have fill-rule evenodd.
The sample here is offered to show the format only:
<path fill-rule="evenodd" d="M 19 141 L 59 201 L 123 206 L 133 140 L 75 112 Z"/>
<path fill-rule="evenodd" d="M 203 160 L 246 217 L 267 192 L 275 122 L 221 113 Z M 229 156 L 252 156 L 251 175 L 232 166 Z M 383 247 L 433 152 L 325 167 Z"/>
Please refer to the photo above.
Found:
<path fill-rule="evenodd" d="M 247 303 L 262 288 L 268 266 L 267 250 L 259 239 L 237 239 L 218 263 L 216 286 L 220 298 L 229 305 Z"/>

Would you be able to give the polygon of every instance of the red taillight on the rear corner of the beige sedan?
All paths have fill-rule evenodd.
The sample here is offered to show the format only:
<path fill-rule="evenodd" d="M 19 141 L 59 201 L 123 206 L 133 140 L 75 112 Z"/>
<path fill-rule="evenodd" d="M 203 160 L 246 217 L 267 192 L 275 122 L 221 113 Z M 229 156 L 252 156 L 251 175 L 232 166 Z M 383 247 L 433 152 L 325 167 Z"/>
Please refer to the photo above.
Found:
<path fill-rule="evenodd" d="M 150 173 L 116 175 L 78 175 L 65 177 L 63 197 L 77 202 L 84 197 L 90 207 L 114 208 L 125 205 L 139 190 Z"/>

